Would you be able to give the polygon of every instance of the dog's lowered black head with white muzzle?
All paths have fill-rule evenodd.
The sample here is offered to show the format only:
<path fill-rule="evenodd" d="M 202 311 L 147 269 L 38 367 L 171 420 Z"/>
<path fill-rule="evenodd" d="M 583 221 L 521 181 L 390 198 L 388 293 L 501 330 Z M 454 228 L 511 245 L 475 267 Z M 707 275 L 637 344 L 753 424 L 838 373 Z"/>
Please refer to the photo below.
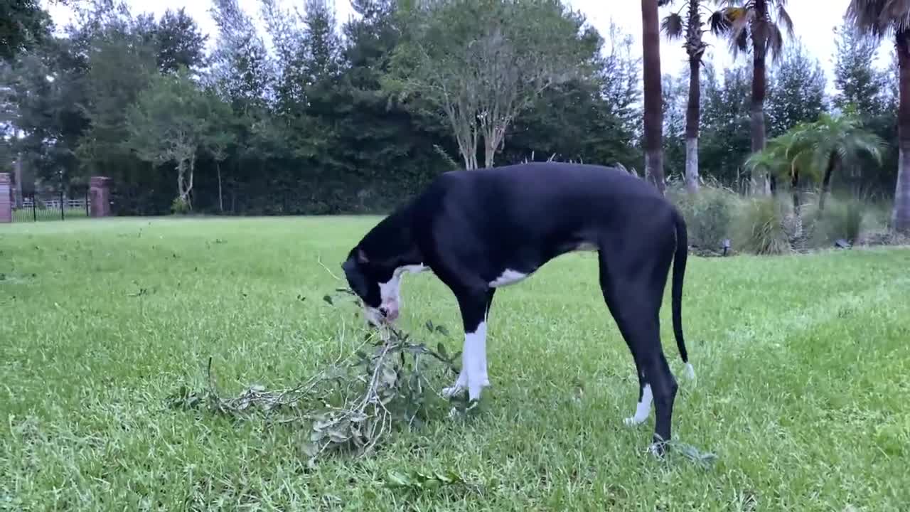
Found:
<path fill-rule="evenodd" d="M 367 322 L 378 327 L 394 323 L 399 316 L 399 274 L 378 261 L 370 261 L 362 248 L 355 247 L 341 264 L 350 289 L 363 302 Z"/>

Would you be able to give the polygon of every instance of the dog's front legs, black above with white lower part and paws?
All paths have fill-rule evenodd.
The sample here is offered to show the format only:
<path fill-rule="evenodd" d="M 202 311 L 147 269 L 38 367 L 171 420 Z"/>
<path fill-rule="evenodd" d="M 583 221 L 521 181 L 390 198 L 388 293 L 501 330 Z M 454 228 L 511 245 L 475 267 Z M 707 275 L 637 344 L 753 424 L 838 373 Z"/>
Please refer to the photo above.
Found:
<path fill-rule="evenodd" d="M 470 401 L 480 400 L 480 391 L 490 385 L 487 375 L 487 293 L 458 295 L 461 321 L 464 324 L 464 343 L 461 348 L 461 372 L 455 384 L 442 390 L 450 398 L 468 389 Z"/>

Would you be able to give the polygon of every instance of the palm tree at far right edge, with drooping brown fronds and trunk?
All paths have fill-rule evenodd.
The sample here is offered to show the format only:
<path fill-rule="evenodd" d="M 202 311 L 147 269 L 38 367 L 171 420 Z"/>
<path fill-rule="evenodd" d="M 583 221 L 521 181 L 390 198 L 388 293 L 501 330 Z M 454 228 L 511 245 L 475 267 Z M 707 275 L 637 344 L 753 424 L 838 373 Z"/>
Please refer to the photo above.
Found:
<path fill-rule="evenodd" d="M 850 0 L 846 13 L 859 32 L 877 40 L 894 37 L 897 53 L 899 103 L 897 108 L 897 183 L 892 224 L 910 233 L 910 2 L 905 0 Z"/>

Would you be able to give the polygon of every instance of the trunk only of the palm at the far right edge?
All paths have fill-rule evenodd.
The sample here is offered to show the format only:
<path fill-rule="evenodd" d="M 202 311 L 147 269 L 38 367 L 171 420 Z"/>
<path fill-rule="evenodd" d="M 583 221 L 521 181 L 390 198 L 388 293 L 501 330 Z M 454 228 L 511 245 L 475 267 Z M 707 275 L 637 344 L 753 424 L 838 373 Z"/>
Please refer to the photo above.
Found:
<path fill-rule="evenodd" d="M 892 213 L 894 230 L 910 234 L 910 31 L 897 35 L 898 83 L 900 104 L 897 108 L 897 183 L 895 208 Z"/>

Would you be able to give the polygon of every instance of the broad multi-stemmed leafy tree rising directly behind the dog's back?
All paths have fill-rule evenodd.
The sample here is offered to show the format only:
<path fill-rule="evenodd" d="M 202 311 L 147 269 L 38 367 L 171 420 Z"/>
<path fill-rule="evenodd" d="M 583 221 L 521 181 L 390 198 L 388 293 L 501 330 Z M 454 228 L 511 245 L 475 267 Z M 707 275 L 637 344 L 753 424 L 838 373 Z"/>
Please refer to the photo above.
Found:
<path fill-rule="evenodd" d="M 446 113 L 467 169 L 478 167 L 480 138 L 492 167 L 512 121 L 550 87 L 588 76 L 600 46 L 552 0 L 419 4 L 386 84 Z"/>

